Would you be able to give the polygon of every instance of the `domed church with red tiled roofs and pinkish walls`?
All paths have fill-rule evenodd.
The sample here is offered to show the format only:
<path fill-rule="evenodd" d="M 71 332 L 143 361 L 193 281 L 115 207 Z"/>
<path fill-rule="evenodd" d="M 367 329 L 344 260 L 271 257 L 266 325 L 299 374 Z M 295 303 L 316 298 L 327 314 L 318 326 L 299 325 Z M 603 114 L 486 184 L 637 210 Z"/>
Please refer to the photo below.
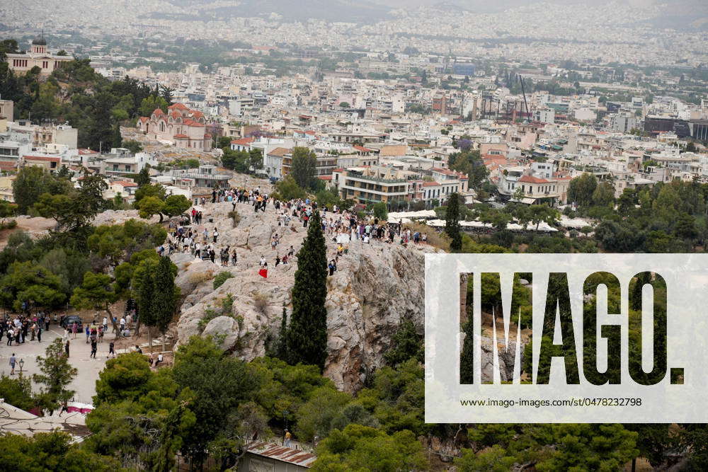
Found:
<path fill-rule="evenodd" d="M 148 137 L 174 146 L 211 151 L 212 136 L 206 132 L 204 114 L 190 110 L 183 103 L 167 108 L 167 113 L 157 108 L 152 115 L 137 120 L 137 128 Z"/>

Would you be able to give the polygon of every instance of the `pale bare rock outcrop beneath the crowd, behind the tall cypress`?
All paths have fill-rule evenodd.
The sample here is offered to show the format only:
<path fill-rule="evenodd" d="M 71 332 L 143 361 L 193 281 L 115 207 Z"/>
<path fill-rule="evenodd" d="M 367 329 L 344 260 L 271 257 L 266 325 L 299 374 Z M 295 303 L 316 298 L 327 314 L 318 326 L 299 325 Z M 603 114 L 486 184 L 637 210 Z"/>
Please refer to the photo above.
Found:
<path fill-rule="evenodd" d="M 178 345 L 186 343 L 192 335 L 212 335 L 217 340 L 223 338 L 224 350 L 251 360 L 265 355 L 268 342 L 277 338 L 283 306 L 290 316 L 290 290 L 297 260 L 275 267 L 275 256 L 282 258 L 290 246 L 297 254 L 307 228 L 297 219 L 289 226 L 278 226 L 273 205 L 256 214 L 251 205 L 236 204 L 240 221 L 235 226 L 229 217 L 231 211 L 229 202 L 207 204 L 205 224 L 197 228 L 200 234 L 205 227 L 209 234 L 214 226 L 219 229 L 216 265 L 190 262 L 188 255 L 172 255 L 173 262 L 180 267 L 176 283 L 186 295 L 177 325 Z M 334 215 L 324 217 L 329 219 Z M 207 222 L 209 218 L 212 223 Z M 280 236 L 275 251 L 270 247 L 274 234 Z M 327 257 L 333 259 L 336 243 L 332 235 L 325 236 Z M 224 246 L 231 251 L 236 248 L 235 266 L 218 266 L 219 249 Z M 423 255 L 433 251 L 430 246 L 404 247 L 378 241 L 348 244 L 348 253 L 339 258 L 337 272 L 328 279 L 326 300 L 329 357 L 325 374 L 339 388 L 348 391 L 358 388 L 366 374 L 382 364 L 383 353 L 401 318 L 409 317 L 416 324 L 423 324 Z M 258 275 L 261 255 L 268 262 L 265 279 Z M 233 277 L 214 290 L 212 277 L 222 271 L 231 272 Z M 207 310 L 219 311 L 229 294 L 234 299 L 232 313 L 212 319 L 200 333 L 200 319 Z"/>

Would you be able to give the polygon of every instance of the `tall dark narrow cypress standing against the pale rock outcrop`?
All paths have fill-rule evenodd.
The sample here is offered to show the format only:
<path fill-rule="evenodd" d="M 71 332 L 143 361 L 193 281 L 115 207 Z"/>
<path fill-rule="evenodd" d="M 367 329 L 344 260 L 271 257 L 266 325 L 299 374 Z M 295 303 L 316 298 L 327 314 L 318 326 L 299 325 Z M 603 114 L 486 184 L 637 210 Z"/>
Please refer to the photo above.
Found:
<path fill-rule="evenodd" d="M 290 364 L 316 365 L 324 369 L 327 359 L 327 256 L 319 212 L 314 212 L 307 238 L 297 253 L 292 315 L 287 329 Z"/>

